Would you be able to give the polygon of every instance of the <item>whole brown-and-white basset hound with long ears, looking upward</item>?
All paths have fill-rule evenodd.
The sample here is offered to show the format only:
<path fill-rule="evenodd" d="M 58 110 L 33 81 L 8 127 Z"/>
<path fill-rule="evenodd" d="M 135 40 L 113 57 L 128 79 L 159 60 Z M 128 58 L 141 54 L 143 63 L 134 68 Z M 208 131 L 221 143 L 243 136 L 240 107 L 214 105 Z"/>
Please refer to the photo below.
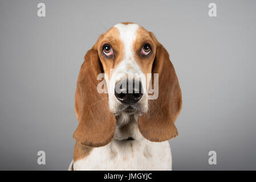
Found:
<path fill-rule="evenodd" d="M 158 89 L 155 98 L 150 85 Z M 69 169 L 171 170 L 168 140 L 178 135 L 174 122 L 181 106 L 166 49 L 138 24 L 116 24 L 86 53 L 80 68 L 75 93 L 79 124 Z"/>

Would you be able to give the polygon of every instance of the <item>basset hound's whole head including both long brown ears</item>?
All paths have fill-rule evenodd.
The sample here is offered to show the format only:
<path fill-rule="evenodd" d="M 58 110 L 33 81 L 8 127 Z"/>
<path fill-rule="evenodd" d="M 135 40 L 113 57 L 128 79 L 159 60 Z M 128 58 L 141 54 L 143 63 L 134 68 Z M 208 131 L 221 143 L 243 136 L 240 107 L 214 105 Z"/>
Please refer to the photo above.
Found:
<path fill-rule="evenodd" d="M 104 74 L 102 74 L 104 73 Z M 100 147 L 115 135 L 116 118 L 136 115 L 140 133 L 152 142 L 178 135 L 181 89 L 166 49 L 152 32 L 119 23 L 102 34 L 84 57 L 75 111 L 76 142 Z"/>

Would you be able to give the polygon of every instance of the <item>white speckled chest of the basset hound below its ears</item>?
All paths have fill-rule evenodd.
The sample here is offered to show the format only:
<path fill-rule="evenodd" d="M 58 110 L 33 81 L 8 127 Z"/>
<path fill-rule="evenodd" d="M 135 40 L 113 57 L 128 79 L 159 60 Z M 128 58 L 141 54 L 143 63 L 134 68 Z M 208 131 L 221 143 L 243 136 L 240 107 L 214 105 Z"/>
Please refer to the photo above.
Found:
<path fill-rule="evenodd" d="M 74 170 L 171 170 L 168 142 L 117 141 L 94 148 L 74 162 Z"/>

